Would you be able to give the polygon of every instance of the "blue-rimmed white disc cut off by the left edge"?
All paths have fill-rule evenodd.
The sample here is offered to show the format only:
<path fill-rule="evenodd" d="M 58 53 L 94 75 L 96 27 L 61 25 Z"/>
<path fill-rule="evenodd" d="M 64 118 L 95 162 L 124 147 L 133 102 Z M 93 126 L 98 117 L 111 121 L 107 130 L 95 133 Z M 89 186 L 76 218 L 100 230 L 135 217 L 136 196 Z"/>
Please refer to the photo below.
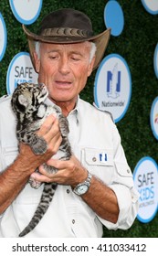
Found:
<path fill-rule="evenodd" d="M 0 61 L 4 58 L 5 55 L 5 48 L 6 48 L 6 27 L 5 27 L 5 20 L 0 13 Z"/>

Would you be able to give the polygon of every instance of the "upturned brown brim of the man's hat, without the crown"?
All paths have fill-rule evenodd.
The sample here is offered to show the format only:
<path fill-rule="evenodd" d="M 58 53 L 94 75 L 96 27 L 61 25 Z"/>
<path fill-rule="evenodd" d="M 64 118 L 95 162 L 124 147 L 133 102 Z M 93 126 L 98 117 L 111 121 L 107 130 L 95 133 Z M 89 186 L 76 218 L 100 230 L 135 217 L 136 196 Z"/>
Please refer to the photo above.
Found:
<path fill-rule="evenodd" d="M 48 36 L 39 36 L 35 33 L 30 32 L 25 25 L 22 25 L 23 30 L 26 34 L 28 40 L 28 47 L 29 53 L 32 60 L 32 64 L 35 68 L 35 59 L 34 59 L 34 52 L 35 52 L 35 42 L 43 42 L 43 43 L 52 43 L 52 44 L 74 44 L 74 43 L 81 43 L 84 41 L 90 41 L 95 43 L 97 49 L 95 54 L 95 62 L 93 69 L 96 69 L 100 61 L 104 55 L 104 52 L 108 46 L 109 39 L 111 36 L 111 28 L 106 29 L 104 32 L 100 33 L 97 36 L 92 37 L 48 37 Z"/>

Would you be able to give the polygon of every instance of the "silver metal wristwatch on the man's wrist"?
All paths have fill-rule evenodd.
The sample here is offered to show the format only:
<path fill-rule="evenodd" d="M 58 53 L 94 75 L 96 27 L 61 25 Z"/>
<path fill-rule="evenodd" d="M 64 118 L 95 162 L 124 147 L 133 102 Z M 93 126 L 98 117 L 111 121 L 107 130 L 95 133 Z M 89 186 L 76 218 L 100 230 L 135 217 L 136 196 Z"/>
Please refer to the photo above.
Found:
<path fill-rule="evenodd" d="M 86 179 L 84 182 L 79 183 L 79 184 L 77 185 L 77 187 L 75 187 L 75 188 L 73 189 L 73 192 L 74 192 L 76 195 L 78 195 L 78 196 L 84 195 L 84 194 L 89 190 L 89 188 L 90 188 L 91 177 L 92 177 L 92 176 L 91 176 L 90 173 L 88 172 L 88 177 L 87 177 L 87 179 Z"/>

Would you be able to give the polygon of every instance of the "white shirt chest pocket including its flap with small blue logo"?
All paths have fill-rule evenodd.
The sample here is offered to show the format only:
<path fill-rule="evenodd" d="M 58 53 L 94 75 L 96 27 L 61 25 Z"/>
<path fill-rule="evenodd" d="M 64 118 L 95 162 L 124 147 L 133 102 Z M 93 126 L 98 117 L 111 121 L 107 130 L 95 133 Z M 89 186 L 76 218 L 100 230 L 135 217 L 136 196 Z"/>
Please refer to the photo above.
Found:
<path fill-rule="evenodd" d="M 114 172 L 112 149 L 84 148 L 81 150 L 81 162 L 92 175 L 107 185 L 111 184 Z"/>

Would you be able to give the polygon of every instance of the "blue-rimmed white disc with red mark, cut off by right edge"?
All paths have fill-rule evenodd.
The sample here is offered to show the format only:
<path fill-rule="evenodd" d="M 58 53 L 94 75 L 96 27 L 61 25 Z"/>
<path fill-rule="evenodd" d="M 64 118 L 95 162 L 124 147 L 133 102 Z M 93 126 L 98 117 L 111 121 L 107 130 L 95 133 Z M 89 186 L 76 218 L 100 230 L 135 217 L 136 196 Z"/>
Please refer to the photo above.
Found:
<path fill-rule="evenodd" d="M 156 97 L 153 101 L 150 121 L 153 135 L 158 140 L 158 97 Z"/>

